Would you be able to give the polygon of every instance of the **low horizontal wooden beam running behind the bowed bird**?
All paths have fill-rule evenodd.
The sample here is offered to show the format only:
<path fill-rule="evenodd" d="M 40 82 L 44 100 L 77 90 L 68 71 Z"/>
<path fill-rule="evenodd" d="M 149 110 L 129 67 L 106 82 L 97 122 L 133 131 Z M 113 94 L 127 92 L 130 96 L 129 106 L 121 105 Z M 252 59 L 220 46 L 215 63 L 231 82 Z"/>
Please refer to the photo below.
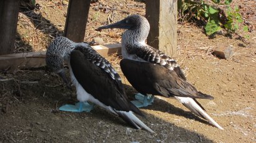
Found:
<path fill-rule="evenodd" d="M 102 57 L 110 54 L 121 54 L 121 44 L 96 45 L 92 46 Z M 16 68 L 29 69 L 46 66 L 46 51 L 13 53 L 8 55 L 0 55 L 0 70 L 6 70 L 9 73 Z"/>

